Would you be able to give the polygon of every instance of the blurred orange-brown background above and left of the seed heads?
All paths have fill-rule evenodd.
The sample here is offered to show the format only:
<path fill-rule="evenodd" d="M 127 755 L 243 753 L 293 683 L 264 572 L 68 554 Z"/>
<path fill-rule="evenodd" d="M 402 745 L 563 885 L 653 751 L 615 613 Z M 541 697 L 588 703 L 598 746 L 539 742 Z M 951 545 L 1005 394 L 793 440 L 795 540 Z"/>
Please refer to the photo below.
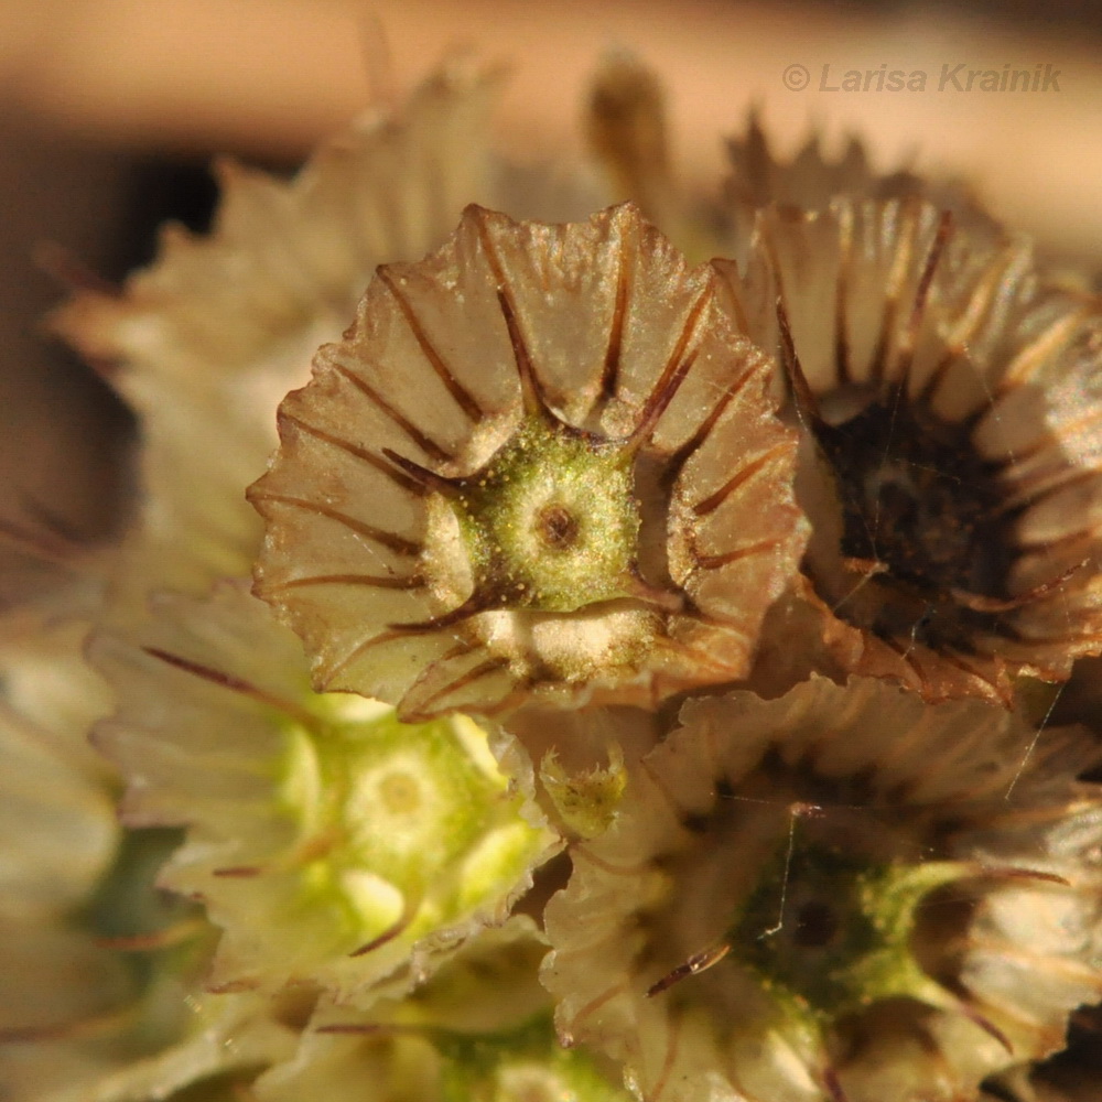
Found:
<path fill-rule="evenodd" d="M 164 218 L 205 224 L 214 153 L 290 169 L 386 93 L 385 53 L 407 87 L 458 44 L 512 63 L 499 133 L 517 155 L 576 149 L 587 77 L 602 51 L 627 46 L 667 83 L 683 177 L 714 186 L 720 138 L 756 100 L 781 148 L 809 120 L 857 130 L 878 164 L 914 158 L 968 177 L 1051 251 L 1102 268 L 1096 4 L 4 0 L 0 519 L 48 505 L 79 532 L 107 531 L 131 431 L 107 388 L 42 334 L 62 292 L 35 250 L 56 242 L 120 280 L 149 260 Z M 942 67 L 960 63 L 1059 77 L 1047 91 L 939 91 Z M 793 65 L 808 74 L 801 90 L 784 82 Z M 824 65 L 831 86 L 884 65 L 925 72 L 927 88 L 824 90 Z"/>

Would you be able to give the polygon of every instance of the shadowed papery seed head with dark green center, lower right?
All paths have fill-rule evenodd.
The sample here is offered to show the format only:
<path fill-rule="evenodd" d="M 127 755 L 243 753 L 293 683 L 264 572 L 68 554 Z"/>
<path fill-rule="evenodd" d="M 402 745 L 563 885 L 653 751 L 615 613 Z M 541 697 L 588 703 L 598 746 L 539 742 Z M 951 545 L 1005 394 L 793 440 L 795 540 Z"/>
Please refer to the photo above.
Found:
<path fill-rule="evenodd" d="M 663 1102 L 940 1102 L 1060 1047 L 1102 988 L 1098 752 L 1033 737 L 876 680 L 690 702 L 549 906 L 564 1037 Z"/>

